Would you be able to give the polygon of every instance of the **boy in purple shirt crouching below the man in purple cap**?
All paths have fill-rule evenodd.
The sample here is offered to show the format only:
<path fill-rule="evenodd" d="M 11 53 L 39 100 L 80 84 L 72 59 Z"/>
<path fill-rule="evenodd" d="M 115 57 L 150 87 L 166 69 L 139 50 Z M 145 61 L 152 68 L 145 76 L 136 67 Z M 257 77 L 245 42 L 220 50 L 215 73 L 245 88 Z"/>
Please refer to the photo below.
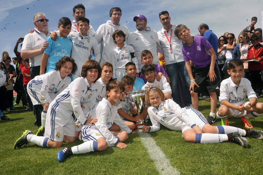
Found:
<path fill-rule="evenodd" d="M 165 69 L 159 64 L 153 64 L 153 55 L 150 51 L 144 50 L 141 52 L 141 62 L 144 63 L 144 65 L 150 64 L 155 67 L 156 79 L 158 82 L 160 81 L 161 76 L 163 75 L 166 78 L 166 81 L 170 83 L 170 79 Z M 140 78 L 144 80 L 144 83 L 147 82 L 147 79 L 143 76 L 143 74 L 140 75 Z"/>

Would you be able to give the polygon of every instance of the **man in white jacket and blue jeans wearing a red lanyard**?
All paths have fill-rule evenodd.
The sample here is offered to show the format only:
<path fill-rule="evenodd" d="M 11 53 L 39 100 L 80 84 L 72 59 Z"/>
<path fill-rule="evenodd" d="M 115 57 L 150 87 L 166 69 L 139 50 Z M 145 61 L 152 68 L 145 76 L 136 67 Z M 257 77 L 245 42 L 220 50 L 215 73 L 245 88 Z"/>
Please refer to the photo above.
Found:
<path fill-rule="evenodd" d="M 181 107 L 183 105 L 183 99 L 186 99 L 185 105 L 189 106 L 192 104 L 191 102 L 191 95 L 189 92 L 190 89 L 190 77 L 187 73 L 184 56 L 182 52 L 183 42 L 180 41 L 174 34 L 174 29 L 177 25 L 171 24 L 171 18 L 169 16 L 168 11 L 162 11 L 159 13 L 160 22 L 162 24 L 162 29 L 157 32 L 159 41 L 162 47 L 162 55 L 158 53 L 160 59 L 164 56 L 165 57 L 165 67 L 166 72 L 170 78 L 170 86 L 172 89 L 172 97 L 173 100 L 179 104 Z M 184 84 L 184 96 L 185 98 L 181 98 L 178 89 L 179 82 L 181 82 L 181 77 L 179 77 L 178 73 L 181 75 Z M 178 81 L 179 79 L 179 81 Z"/>

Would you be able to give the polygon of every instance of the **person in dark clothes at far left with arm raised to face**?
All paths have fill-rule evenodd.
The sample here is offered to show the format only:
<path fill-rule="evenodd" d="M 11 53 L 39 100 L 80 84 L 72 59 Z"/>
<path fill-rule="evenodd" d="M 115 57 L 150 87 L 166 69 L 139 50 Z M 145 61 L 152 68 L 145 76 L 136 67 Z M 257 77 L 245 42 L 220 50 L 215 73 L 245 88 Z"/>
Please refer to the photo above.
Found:
<path fill-rule="evenodd" d="M 24 67 L 22 64 L 22 58 L 21 58 L 21 53 L 17 51 L 18 49 L 18 44 L 23 42 L 24 38 L 19 38 L 16 41 L 15 48 L 14 48 L 14 53 L 15 53 L 15 58 L 13 58 L 13 63 L 15 64 L 15 72 L 16 72 L 16 80 L 14 84 L 14 90 L 17 93 L 15 103 L 13 104 L 18 105 L 20 102 L 20 99 L 22 100 L 23 104 L 23 109 L 27 108 L 27 96 L 25 93 L 25 89 L 23 87 L 23 74 L 21 72 L 21 69 Z M 22 44 L 20 45 L 22 47 Z"/>

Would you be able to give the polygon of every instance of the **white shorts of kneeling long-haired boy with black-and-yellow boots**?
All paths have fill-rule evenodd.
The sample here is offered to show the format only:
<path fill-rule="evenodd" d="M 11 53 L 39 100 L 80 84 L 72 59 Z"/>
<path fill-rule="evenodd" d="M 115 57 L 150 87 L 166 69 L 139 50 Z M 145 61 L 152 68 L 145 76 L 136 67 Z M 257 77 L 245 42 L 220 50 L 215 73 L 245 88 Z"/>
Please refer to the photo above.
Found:
<path fill-rule="evenodd" d="M 53 141 L 63 141 L 64 136 L 76 136 L 73 111 L 62 108 L 56 101 L 49 104 L 46 114 L 45 137 Z"/>

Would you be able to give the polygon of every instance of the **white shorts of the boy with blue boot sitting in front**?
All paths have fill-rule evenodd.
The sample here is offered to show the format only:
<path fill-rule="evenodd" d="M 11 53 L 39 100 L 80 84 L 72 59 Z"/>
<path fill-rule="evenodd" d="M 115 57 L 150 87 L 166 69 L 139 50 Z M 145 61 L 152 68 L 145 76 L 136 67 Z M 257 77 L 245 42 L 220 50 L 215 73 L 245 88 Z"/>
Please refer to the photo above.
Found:
<path fill-rule="evenodd" d="M 111 134 L 115 133 L 115 131 L 110 131 Z M 101 132 L 98 129 L 93 128 L 93 126 L 85 125 L 82 128 L 82 140 L 84 142 L 93 140 L 97 141 L 99 138 L 103 137 Z M 104 138 L 104 137 L 103 137 Z"/>

